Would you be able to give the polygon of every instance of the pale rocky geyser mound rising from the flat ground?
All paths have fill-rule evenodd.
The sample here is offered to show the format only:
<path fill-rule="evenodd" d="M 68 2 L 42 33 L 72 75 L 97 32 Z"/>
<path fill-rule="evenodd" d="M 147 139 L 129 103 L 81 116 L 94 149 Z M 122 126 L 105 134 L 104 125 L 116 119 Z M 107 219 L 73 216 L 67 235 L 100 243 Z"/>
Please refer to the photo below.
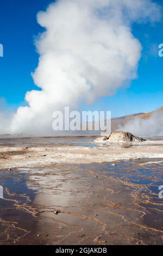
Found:
<path fill-rule="evenodd" d="M 112 132 L 111 135 L 105 137 L 99 137 L 95 140 L 95 142 L 111 142 L 111 143 L 129 143 L 129 142 L 143 142 L 146 139 L 136 137 L 130 132 Z"/>

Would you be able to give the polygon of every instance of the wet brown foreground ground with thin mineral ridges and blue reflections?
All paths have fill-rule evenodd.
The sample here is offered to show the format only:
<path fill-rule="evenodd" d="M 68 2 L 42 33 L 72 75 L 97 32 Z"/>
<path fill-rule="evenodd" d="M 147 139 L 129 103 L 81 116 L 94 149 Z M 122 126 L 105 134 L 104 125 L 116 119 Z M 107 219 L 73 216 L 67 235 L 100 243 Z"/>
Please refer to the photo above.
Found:
<path fill-rule="evenodd" d="M 0 244 L 162 245 L 162 177 L 163 159 L 1 168 Z"/>

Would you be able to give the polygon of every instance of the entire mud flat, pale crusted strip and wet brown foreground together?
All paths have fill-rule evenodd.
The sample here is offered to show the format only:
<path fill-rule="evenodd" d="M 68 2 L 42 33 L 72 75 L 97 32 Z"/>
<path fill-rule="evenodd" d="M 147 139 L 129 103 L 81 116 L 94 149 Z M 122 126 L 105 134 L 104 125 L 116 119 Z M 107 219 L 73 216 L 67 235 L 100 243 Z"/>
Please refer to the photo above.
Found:
<path fill-rule="evenodd" d="M 1 245 L 163 244 L 161 141 L 0 143 Z"/>

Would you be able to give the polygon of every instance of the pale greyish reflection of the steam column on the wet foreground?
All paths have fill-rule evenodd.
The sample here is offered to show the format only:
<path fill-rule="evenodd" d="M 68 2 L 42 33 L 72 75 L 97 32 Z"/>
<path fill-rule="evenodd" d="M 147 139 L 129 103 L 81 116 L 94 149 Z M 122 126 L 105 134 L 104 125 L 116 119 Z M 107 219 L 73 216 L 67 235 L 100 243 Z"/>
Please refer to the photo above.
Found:
<path fill-rule="evenodd" d="M 47 234 L 49 243 L 60 244 L 61 241 L 67 241 L 69 236 L 71 244 L 75 239 L 79 242 L 85 238 L 85 235 L 79 235 L 84 226 L 90 229 L 90 235 L 95 232 L 95 227 L 91 230 L 90 223 L 95 216 L 92 218 L 91 210 L 82 210 L 82 202 L 87 193 L 87 181 L 83 183 L 80 179 L 83 176 L 78 172 L 71 172 L 71 167 L 28 170 L 27 186 L 30 190 L 37 191 L 33 204 L 39 210 L 41 220 L 37 224 L 36 233 Z M 55 214 L 56 209 L 59 214 Z"/>

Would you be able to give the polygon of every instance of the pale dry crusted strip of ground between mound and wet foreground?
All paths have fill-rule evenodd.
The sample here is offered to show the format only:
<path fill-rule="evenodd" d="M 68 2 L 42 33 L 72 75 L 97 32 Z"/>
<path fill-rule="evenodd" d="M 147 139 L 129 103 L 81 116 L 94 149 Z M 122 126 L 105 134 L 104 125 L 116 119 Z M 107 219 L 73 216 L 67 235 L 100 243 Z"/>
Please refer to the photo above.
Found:
<path fill-rule="evenodd" d="M 64 139 L 64 143 L 40 143 L 39 138 L 12 140 L 0 144 L 1 168 L 48 167 L 54 163 L 104 163 L 135 159 L 163 159 L 163 141 L 141 143 L 99 143 L 93 139 Z M 55 141 L 55 140 L 54 140 Z M 1 139 L 0 139 L 1 142 Z"/>

